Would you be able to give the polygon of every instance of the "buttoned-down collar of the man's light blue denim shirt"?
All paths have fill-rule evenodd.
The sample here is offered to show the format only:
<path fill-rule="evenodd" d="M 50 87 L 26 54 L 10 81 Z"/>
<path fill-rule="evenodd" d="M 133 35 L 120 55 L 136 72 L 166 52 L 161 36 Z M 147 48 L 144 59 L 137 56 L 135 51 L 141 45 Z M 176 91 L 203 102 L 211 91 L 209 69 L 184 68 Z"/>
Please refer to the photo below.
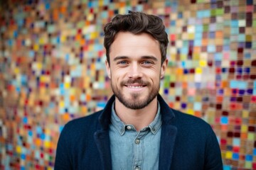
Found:
<path fill-rule="evenodd" d="M 161 113 L 160 113 L 160 104 L 159 101 L 157 101 L 157 113 L 156 113 L 156 117 L 154 118 L 154 120 L 145 128 L 143 128 L 141 131 L 146 130 L 147 128 L 150 129 L 150 131 L 155 135 L 156 132 L 160 129 L 161 127 Z M 126 130 L 126 127 L 128 125 L 125 125 L 122 120 L 120 120 L 120 118 L 117 116 L 117 114 L 114 111 L 114 102 L 112 103 L 112 109 L 111 109 L 111 123 L 112 125 L 114 125 L 114 128 L 117 129 L 117 131 L 119 132 L 120 135 L 124 135 L 124 132 Z M 132 126 L 133 125 L 129 125 Z"/>

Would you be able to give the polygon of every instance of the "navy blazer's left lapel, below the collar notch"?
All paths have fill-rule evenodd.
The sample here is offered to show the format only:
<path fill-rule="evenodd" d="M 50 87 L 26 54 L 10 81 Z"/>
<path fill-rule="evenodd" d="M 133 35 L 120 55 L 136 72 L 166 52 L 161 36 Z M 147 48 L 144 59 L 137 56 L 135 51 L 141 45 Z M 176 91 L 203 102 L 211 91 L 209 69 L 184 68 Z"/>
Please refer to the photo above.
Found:
<path fill-rule="evenodd" d="M 99 130 L 94 135 L 97 149 L 100 153 L 102 169 L 112 169 L 111 153 L 110 153 L 110 137 L 108 130 Z M 95 160 L 96 161 L 96 160 Z"/>

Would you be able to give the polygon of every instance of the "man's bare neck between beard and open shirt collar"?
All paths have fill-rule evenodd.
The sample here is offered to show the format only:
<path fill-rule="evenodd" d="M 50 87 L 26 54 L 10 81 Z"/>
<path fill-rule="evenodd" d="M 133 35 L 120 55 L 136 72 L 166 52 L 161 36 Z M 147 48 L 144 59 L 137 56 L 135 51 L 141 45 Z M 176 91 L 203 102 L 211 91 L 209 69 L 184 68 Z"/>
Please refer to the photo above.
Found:
<path fill-rule="evenodd" d="M 137 110 L 125 107 L 116 97 L 114 110 L 122 122 L 134 125 L 139 131 L 154 120 L 157 112 L 157 97 L 148 106 Z"/>

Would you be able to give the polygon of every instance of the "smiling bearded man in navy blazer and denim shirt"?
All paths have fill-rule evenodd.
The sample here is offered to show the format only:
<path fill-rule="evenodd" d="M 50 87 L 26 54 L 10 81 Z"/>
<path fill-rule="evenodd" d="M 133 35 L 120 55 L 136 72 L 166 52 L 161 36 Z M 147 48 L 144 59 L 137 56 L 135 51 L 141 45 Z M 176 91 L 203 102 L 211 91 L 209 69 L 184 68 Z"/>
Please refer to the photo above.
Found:
<path fill-rule="evenodd" d="M 114 96 L 103 111 L 65 125 L 55 169 L 223 169 L 210 125 L 159 95 L 169 42 L 161 19 L 129 12 L 104 30 Z"/>

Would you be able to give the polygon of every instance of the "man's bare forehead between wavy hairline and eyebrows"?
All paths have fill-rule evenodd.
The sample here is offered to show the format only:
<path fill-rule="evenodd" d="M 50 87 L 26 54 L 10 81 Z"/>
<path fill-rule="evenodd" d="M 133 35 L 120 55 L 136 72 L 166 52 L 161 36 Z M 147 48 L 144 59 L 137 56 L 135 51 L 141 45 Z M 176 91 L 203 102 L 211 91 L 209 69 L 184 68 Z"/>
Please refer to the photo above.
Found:
<path fill-rule="evenodd" d="M 161 58 L 159 42 L 146 33 L 134 35 L 129 32 L 120 32 L 110 47 L 111 60 L 117 56 L 142 57 L 145 55 Z"/>

